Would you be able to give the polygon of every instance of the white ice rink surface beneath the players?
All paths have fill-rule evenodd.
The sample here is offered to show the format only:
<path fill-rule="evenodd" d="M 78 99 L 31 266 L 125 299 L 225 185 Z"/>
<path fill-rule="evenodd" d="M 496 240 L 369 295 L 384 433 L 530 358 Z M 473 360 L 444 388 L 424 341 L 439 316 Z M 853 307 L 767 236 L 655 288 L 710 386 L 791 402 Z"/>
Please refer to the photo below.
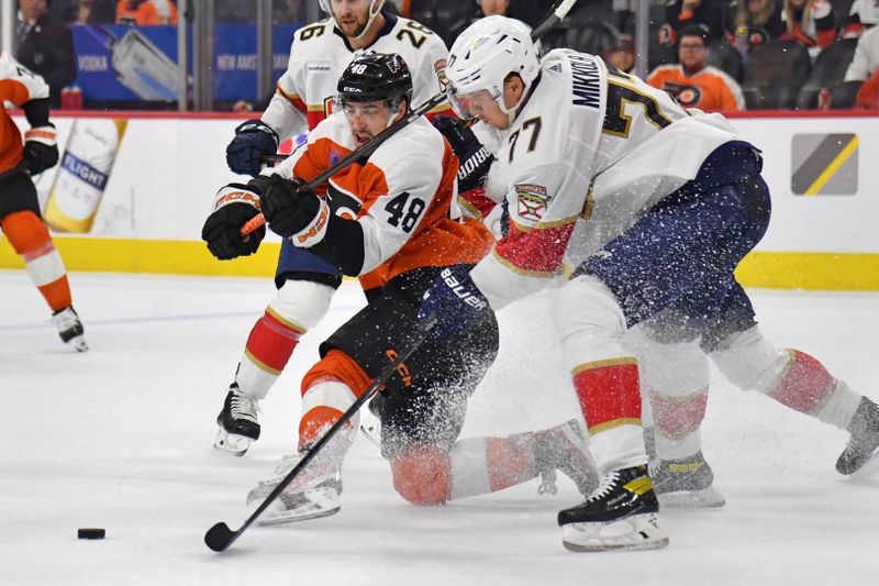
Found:
<path fill-rule="evenodd" d="M 246 518 L 244 498 L 293 445 L 299 380 L 318 343 L 363 305 L 343 285 L 269 397 L 244 457 L 211 447 L 215 417 L 269 279 L 73 274 L 91 352 L 65 347 L 23 272 L 0 272 L 0 584 L 831 585 L 879 584 L 879 478 L 834 469 L 847 434 L 741 392 L 716 373 L 704 452 L 727 505 L 664 510 L 665 550 L 570 553 L 555 523 L 574 484 L 537 480 L 439 508 L 405 504 L 366 441 L 344 469 L 342 511 L 249 529 L 225 553 L 204 532 Z M 879 295 L 753 291 L 779 346 L 820 357 L 879 399 Z M 498 362 L 464 434 L 508 434 L 576 414 L 545 297 L 501 313 Z M 81 527 L 107 529 L 78 541 Z"/>

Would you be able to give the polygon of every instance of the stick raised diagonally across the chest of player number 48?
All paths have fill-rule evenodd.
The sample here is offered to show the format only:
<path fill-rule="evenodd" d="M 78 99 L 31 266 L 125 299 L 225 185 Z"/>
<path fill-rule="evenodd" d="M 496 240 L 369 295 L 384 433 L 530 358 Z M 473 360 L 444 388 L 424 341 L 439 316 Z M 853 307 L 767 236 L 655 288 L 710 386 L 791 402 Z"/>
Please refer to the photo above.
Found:
<path fill-rule="evenodd" d="M 549 12 L 549 14 L 543 21 L 541 21 L 541 23 L 537 26 L 535 26 L 534 30 L 531 31 L 532 41 L 538 41 L 543 35 L 548 33 L 559 22 L 561 22 L 565 15 L 568 12 L 570 12 L 570 9 L 574 7 L 576 2 L 577 0 L 561 0 L 558 3 L 558 5 L 556 5 L 552 10 L 552 12 Z M 419 118 L 423 117 L 424 114 L 426 114 L 427 112 L 430 112 L 444 101 L 446 101 L 446 95 L 445 92 L 441 92 L 431 98 L 430 100 L 427 100 L 426 102 L 422 103 L 414 110 L 410 110 L 409 113 L 407 113 L 398 122 L 391 124 L 382 132 L 369 139 L 367 142 L 365 142 L 364 144 L 352 151 L 347 156 L 341 158 L 335 165 L 332 165 L 329 169 L 321 173 L 314 179 L 303 185 L 300 189 L 302 190 L 314 189 L 315 187 L 327 180 L 330 177 L 332 177 L 336 173 L 341 172 L 342 169 L 351 165 L 354 161 L 372 153 L 372 151 L 378 148 L 385 141 L 387 141 L 388 139 L 390 139 L 391 136 L 393 136 L 394 134 L 397 134 L 398 132 L 407 128 L 409 124 L 411 124 Z M 268 163 L 276 163 L 283 161 L 289 155 L 268 155 L 264 156 L 263 161 Z M 266 223 L 266 218 L 262 213 L 258 213 L 253 218 L 251 218 L 247 221 L 247 223 L 241 226 L 241 235 L 246 237 L 254 230 L 256 230 L 257 228 L 259 228 L 265 223 Z"/>

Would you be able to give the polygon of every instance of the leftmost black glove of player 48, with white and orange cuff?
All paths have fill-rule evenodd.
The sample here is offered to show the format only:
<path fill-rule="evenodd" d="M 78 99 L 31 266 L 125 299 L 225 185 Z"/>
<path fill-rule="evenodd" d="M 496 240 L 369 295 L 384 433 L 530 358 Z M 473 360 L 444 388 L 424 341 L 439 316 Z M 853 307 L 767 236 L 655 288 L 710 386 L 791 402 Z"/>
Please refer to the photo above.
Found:
<path fill-rule="evenodd" d="M 211 254 L 221 261 L 255 253 L 266 236 L 265 225 L 246 237 L 241 235 L 242 226 L 259 213 L 260 183 L 265 183 L 262 177 L 247 185 L 229 184 L 216 192 L 213 212 L 201 229 L 201 240 L 208 243 Z"/>

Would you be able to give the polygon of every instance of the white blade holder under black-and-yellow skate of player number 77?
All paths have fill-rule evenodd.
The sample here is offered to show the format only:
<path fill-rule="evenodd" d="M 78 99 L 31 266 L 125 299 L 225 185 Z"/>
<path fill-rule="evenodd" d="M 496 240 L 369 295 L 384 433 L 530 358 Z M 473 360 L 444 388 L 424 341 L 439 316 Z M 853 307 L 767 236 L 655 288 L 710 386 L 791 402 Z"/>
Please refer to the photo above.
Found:
<path fill-rule="evenodd" d="M 633 515 L 608 523 L 570 523 L 563 528 L 561 543 L 572 552 L 658 550 L 668 545 L 656 513 Z"/>

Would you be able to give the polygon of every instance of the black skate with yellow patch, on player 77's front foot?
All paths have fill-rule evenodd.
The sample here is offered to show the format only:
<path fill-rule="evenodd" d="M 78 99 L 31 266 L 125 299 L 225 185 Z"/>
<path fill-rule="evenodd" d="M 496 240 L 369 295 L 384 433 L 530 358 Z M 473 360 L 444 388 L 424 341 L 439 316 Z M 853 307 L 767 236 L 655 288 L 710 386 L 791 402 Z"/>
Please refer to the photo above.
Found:
<path fill-rule="evenodd" d="M 665 548 L 658 511 L 647 466 L 613 471 L 586 502 L 558 513 L 561 543 L 575 552 Z"/>

